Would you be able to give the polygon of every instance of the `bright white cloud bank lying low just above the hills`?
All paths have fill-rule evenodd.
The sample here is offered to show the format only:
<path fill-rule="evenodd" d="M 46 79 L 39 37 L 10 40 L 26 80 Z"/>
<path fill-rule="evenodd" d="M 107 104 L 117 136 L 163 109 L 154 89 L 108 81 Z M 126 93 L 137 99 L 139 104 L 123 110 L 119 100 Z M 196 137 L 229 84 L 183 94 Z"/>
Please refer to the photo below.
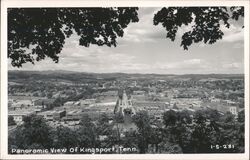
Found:
<path fill-rule="evenodd" d="M 125 54 L 97 55 L 97 58 L 76 59 L 65 57 L 59 63 L 46 59 L 35 65 L 25 64 L 24 70 L 70 70 L 96 73 L 158 73 L 158 74 L 204 74 L 243 73 L 243 62 L 221 62 L 214 64 L 204 59 L 186 59 L 173 62 L 138 62 L 135 57 Z M 9 69 L 16 69 L 10 67 Z"/>

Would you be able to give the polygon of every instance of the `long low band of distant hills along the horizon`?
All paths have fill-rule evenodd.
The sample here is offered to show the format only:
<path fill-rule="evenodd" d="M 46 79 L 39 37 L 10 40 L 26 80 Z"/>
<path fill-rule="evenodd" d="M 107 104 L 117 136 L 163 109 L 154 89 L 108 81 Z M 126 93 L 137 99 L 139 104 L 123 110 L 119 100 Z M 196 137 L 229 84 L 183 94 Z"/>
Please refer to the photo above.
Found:
<path fill-rule="evenodd" d="M 186 75 L 173 75 L 173 74 L 128 74 L 128 73 L 86 73 L 86 72 L 73 72 L 65 70 L 57 71 L 8 71 L 8 80 L 18 82 L 22 80 L 26 81 L 47 81 L 47 80 L 66 80 L 71 82 L 95 82 L 102 80 L 124 80 L 124 79 L 157 79 L 157 80 L 168 80 L 168 79 L 237 79 L 244 78 L 243 74 L 186 74 Z"/>

